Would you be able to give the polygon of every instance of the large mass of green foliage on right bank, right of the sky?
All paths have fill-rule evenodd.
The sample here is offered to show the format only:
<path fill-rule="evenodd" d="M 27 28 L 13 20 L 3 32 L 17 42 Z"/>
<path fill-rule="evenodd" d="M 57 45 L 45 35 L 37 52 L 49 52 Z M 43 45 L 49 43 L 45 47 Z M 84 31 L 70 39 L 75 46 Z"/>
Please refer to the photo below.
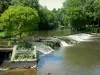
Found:
<path fill-rule="evenodd" d="M 61 25 L 75 29 L 100 27 L 100 0 L 65 0 L 58 18 Z"/>

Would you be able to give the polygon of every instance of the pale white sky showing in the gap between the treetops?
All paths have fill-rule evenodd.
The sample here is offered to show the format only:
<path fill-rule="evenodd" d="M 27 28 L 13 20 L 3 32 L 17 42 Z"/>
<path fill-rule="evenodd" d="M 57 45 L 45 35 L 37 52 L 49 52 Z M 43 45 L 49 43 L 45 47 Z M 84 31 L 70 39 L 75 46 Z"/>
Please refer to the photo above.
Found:
<path fill-rule="evenodd" d="M 39 3 L 42 6 L 47 6 L 49 10 L 52 10 L 53 8 L 61 8 L 64 1 L 65 0 L 39 0 Z"/>

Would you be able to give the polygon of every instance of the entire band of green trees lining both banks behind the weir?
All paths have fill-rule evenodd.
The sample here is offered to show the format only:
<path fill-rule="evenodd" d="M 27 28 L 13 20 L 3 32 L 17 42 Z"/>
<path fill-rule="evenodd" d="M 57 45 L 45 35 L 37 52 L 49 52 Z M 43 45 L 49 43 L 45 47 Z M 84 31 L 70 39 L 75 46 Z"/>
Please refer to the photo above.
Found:
<path fill-rule="evenodd" d="M 50 11 L 39 0 L 1 0 L 0 37 L 22 38 L 34 31 L 69 28 L 100 32 L 99 0 L 65 0 Z"/>

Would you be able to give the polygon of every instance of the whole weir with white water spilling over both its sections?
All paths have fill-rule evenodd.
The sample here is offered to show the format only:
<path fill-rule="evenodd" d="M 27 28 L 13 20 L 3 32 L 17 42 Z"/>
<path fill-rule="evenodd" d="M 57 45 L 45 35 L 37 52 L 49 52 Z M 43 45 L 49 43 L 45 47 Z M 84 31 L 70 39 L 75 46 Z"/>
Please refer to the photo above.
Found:
<path fill-rule="evenodd" d="M 61 37 L 48 37 L 42 42 L 58 42 L 61 47 L 67 47 L 67 46 L 73 46 L 73 44 L 79 43 L 81 41 L 86 41 L 90 38 L 90 34 L 74 34 L 74 35 L 69 35 L 69 36 L 61 36 Z M 44 43 L 38 42 L 34 43 L 36 45 L 36 50 L 39 51 L 40 53 L 43 54 L 48 54 L 54 51 L 52 48 L 49 46 L 46 46 Z"/>

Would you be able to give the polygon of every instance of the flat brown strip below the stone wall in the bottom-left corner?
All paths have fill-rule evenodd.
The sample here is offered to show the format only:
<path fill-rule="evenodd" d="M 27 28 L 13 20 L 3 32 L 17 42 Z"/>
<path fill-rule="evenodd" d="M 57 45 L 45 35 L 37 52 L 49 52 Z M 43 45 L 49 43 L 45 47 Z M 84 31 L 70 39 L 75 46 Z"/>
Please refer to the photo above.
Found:
<path fill-rule="evenodd" d="M 37 75 L 36 69 L 12 69 L 0 71 L 0 75 Z"/>

